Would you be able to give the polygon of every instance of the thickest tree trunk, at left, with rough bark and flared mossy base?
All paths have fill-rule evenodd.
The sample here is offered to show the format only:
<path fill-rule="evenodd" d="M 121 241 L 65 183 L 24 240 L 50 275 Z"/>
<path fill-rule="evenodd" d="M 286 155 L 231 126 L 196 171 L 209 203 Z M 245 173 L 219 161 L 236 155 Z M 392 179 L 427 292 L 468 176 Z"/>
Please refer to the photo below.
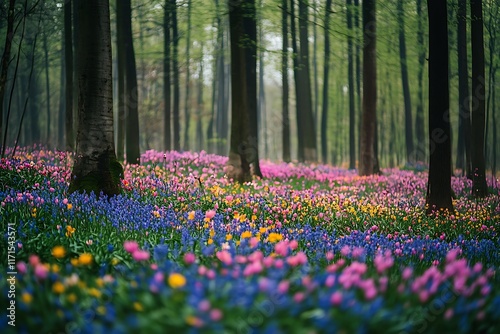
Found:
<path fill-rule="evenodd" d="M 78 2 L 78 132 L 70 192 L 120 192 L 123 169 L 113 134 L 111 32 L 108 0 Z"/>

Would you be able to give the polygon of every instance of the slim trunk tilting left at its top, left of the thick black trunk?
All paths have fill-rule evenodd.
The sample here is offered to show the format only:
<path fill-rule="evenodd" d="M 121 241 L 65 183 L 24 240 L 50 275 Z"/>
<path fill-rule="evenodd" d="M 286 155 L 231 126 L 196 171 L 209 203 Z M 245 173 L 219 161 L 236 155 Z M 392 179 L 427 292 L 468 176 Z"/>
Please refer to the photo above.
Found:
<path fill-rule="evenodd" d="M 399 63 L 401 65 L 401 83 L 403 85 L 403 96 L 405 104 L 406 161 L 413 162 L 415 160 L 415 149 L 413 147 L 413 122 L 411 115 L 410 85 L 408 83 L 408 60 L 406 58 L 406 34 L 403 1 L 404 0 L 398 0 Z"/>

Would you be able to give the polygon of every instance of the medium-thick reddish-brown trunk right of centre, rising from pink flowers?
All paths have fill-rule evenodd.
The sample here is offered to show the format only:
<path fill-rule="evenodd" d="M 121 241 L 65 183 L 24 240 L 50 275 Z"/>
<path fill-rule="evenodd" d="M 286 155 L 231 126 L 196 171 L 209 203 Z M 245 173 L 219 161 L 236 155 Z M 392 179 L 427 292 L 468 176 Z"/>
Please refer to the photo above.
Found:
<path fill-rule="evenodd" d="M 363 115 L 359 175 L 371 175 L 378 166 L 375 154 L 377 126 L 377 55 L 375 0 L 365 0 L 363 11 Z"/>

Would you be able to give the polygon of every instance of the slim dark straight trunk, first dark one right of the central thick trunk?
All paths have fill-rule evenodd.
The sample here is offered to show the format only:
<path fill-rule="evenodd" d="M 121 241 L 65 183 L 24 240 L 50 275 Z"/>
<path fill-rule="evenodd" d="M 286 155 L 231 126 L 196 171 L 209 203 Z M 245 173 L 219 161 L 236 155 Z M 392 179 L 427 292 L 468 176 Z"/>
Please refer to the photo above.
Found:
<path fill-rule="evenodd" d="M 282 143 L 283 143 L 283 161 L 290 162 L 290 118 L 289 114 L 289 83 L 288 83 L 288 0 L 282 1 L 281 9 L 282 22 L 282 40 L 281 47 L 281 76 L 282 76 L 282 97 L 281 97 L 281 117 L 282 117 Z"/>

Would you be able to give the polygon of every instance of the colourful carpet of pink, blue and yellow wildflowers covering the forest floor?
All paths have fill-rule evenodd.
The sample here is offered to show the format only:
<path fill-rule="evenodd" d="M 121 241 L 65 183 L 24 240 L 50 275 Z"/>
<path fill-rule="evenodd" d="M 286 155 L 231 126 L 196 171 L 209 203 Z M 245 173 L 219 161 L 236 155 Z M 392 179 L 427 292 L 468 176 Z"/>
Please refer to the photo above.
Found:
<path fill-rule="evenodd" d="M 498 181 L 430 217 L 423 168 L 226 161 L 147 151 L 106 198 L 69 194 L 69 153 L 2 159 L 0 332 L 500 332 Z"/>

